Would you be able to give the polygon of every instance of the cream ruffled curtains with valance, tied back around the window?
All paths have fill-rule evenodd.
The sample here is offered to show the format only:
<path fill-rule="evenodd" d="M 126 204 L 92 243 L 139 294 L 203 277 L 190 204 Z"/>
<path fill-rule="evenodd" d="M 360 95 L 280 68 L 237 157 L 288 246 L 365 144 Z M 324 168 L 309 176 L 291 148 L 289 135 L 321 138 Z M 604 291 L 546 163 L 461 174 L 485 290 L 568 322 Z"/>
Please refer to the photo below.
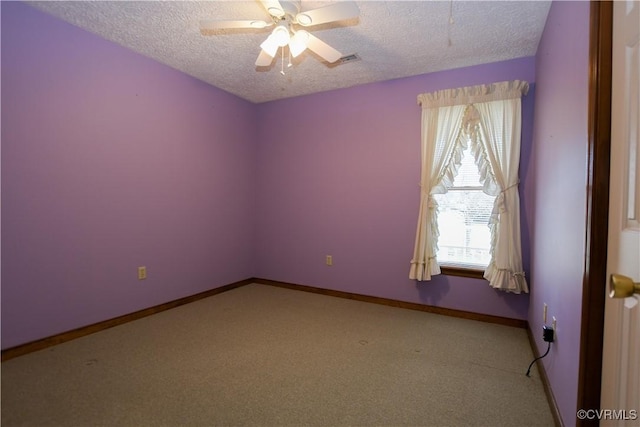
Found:
<path fill-rule="evenodd" d="M 520 243 L 521 96 L 527 82 L 447 89 L 418 96 L 422 104 L 422 177 L 420 211 L 409 277 L 430 280 L 439 274 L 436 260 L 437 204 L 460 164 L 465 141 L 472 142 L 483 190 L 496 196 L 490 220 L 491 261 L 484 277 L 490 286 L 528 292 Z"/>

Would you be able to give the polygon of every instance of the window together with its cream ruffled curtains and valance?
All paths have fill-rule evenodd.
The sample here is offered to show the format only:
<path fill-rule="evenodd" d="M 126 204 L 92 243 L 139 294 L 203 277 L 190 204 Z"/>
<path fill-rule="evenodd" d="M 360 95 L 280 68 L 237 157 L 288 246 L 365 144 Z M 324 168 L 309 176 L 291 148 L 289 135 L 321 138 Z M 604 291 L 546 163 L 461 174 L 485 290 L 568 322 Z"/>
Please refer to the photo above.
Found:
<path fill-rule="evenodd" d="M 484 270 L 493 288 L 529 292 L 518 192 L 528 88 L 514 80 L 418 95 L 422 172 L 410 279 Z"/>

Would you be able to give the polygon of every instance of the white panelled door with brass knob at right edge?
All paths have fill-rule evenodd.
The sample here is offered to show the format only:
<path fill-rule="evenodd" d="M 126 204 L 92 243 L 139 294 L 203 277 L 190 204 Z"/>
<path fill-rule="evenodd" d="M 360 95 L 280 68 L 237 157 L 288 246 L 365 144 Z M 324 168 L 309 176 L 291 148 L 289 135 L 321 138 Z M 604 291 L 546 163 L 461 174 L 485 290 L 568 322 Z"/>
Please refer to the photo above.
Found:
<path fill-rule="evenodd" d="M 640 282 L 640 2 L 614 2 L 612 54 L 607 277 L 630 278 L 633 292 Z M 640 425 L 638 293 L 605 303 L 600 411 L 603 426 Z"/>

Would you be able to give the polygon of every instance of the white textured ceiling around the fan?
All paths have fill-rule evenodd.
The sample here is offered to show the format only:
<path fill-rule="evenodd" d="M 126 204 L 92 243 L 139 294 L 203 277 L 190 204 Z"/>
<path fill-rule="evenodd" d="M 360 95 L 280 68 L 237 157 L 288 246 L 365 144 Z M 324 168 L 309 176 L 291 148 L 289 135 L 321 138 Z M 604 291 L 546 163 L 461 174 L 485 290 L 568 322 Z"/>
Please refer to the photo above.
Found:
<path fill-rule="evenodd" d="M 301 10 L 328 1 L 302 0 Z M 254 65 L 263 30 L 200 33 L 200 20 L 268 20 L 257 1 L 49 1 L 32 6 L 251 102 L 533 56 L 550 1 L 357 1 L 357 19 L 309 27 L 343 55 Z M 453 24 L 449 23 L 452 14 Z M 285 64 L 288 62 L 285 59 Z"/>

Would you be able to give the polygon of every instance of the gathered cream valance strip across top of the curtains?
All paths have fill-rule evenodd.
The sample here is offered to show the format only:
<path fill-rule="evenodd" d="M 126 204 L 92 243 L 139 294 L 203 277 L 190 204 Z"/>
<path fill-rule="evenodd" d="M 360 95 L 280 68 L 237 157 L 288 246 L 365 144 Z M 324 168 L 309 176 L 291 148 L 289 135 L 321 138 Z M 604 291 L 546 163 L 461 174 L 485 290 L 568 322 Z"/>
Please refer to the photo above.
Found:
<path fill-rule="evenodd" d="M 479 102 L 520 98 L 526 95 L 528 91 L 529 83 L 521 80 L 512 80 L 488 85 L 467 86 L 455 89 L 444 89 L 431 93 L 421 93 L 418 95 L 418 104 L 422 105 L 422 108 L 468 105 Z"/>

